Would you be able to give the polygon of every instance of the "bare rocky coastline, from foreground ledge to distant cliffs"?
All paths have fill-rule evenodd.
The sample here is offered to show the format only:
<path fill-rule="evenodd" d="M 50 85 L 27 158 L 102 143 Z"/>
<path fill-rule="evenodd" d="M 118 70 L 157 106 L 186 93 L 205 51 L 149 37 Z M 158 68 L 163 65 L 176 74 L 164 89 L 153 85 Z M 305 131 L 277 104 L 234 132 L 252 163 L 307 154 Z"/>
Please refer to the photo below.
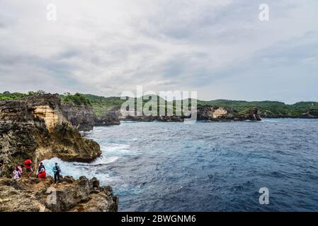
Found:
<path fill-rule="evenodd" d="M 110 186 L 99 186 L 96 178 L 86 177 L 74 179 L 64 177 L 58 187 L 57 194 L 64 198 L 57 198 L 57 203 L 47 203 L 47 196 L 56 189 L 52 184 L 52 177 L 45 180 L 25 179 L 15 181 L 8 179 L 15 165 L 30 158 L 35 165 L 41 160 L 59 157 L 67 162 L 92 162 L 101 156 L 101 149 L 97 142 L 85 138 L 79 131 L 91 131 L 93 127 L 120 125 L 120 121 L 131 122 L 183 122 L 184 117 L 133 117 L 118 111 L 105 112 L 103 117 L 96 119 L 91 107 L 65 105 L 60 102 L 59 95 L 35 95 L 21 100 L 0 100 L 0 138 L 1 160 L 4 160 L 3 175 L 0 179 L 0 209 L 14 210 L 23 203 L 33 203 L 36 211 L 117 211 L 118 196 L 113 194 Z M 242 114 L 233 109 L 223 107 L 198 107 L 198 121 L 203 123 L 261 121 L 257 108 L 250 108 Z M 263 119 L 313 119 L 312 117 L 262 117 Z M 95 185 L 94 185 L 95 184 Z M 97 184 L 97 185 L 96 185 Z M 26 196 L 30 188 L 35 188 L 34 196 Z M 41 188 L 40 191 L 36 189 Z M 77 190 L 83 190 L 80 197 L 74 201 Z M 33 190 L 33 189 L 31 189 Z M 8 193 L 9 191 L 9 193 Z M 33 191 L 32 191 L 33 192 Z M 21 196 L 18 194 L 21 194 Z M 69 198 L 65 198 L 69 197 Z M 13 206 L 8 201 L 14 198 L 17 202 Z M 69 201 L 68 204 L 64 202 Z M 5 208 L 4 206 L 8 206 Z M 61 206 L 67 206 L 62 208 Z"/>

